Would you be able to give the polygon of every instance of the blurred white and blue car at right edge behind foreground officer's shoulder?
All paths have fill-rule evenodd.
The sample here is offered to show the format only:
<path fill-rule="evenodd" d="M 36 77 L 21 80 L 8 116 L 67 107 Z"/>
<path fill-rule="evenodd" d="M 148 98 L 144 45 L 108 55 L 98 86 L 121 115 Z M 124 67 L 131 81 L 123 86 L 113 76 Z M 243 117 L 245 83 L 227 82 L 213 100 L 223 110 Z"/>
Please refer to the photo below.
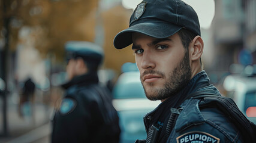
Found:
<path fill-rule="evenodd" d="M 233 98 L 237 107 L 256 124 L 256 74 L 235 74 L 224 80 L 227 96 Z"/>

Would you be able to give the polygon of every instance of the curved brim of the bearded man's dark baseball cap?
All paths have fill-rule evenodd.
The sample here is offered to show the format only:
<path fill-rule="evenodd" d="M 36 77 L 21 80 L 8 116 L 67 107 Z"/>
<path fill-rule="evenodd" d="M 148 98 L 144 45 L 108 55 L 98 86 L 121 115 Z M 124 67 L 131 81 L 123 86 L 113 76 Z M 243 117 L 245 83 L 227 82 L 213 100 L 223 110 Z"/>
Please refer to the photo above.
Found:
<path fill-rule="evenodd" d="M 164 21 L 150 21 L 138 23 L 128 29 L 122 30 L 114 38 L 116 49 L 125 48 L 132 43 L 132 33 L 142 33 L 153 38 L 167 38 L 182 29 L 181 26 Z"/>

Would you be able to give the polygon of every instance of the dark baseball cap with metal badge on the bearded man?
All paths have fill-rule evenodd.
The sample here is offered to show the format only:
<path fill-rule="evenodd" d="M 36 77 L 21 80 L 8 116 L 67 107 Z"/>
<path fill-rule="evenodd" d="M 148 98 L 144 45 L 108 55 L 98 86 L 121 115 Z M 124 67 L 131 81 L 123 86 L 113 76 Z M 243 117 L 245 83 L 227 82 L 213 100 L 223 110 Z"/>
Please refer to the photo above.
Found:
<path fill-rule="evenodd" d="M 115 36 L 114 46 L 122 49 L 131 45 L 134 32 L 167 38 L 182 28 L 201 35 L 197 13 L 190 5 L 180 0 L 144 0 L 132 13 L 129 28 Z"/>

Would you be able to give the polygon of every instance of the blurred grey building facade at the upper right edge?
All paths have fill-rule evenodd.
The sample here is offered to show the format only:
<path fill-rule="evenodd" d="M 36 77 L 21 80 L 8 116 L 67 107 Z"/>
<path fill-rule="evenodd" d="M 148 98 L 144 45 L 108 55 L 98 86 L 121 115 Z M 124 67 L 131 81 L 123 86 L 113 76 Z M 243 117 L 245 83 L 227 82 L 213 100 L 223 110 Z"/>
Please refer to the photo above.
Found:
<path fill-rule="evenodd" d="M 230 71 L 231 64 L 256 64 L 256 1 L 215 0 L 212 37 L 215 58 L 210 70 Z"/>

